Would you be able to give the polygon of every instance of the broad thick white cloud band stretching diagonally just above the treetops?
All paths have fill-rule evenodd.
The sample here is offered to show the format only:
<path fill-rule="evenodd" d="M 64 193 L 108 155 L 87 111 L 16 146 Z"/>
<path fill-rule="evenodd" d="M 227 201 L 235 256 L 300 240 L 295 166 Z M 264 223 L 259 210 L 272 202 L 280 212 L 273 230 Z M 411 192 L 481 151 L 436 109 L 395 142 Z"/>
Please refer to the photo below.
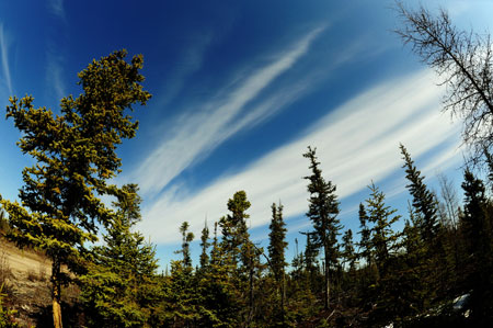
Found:
<path fill-rule="evenodd" d="M 388 81 L 358 95 L 308 128 L 295 142 L 282 146 L 259 159 L 244 171 L 222 177 L 196 193 L 180 195 L 164 192 L 146 206 L 139 229 L 154 242 L 177 241 L 175 229 L 188 220 L 197 233 L 207 215 L 209 220 L 227 213 L 226 202 L 238 190 L 245 190 L 252 203 L 251 226 L 270 220 L 270 205 L 282 200 L 287 218 L 306 212 L 309 174 L 307 159 L 301 154 L 307 146 L 318 149 L 324 176 L 337 185 L 340 199 L 365 189 L 400 169 L 399 143 L 413 158 L 439 146 L 434 166 L 446 168 L 457 157 L 458 126 L 440 114 L 440 89 L 429 72 L 421 72 Z M 328 109 L 329 110 L 329 109 Z"/>

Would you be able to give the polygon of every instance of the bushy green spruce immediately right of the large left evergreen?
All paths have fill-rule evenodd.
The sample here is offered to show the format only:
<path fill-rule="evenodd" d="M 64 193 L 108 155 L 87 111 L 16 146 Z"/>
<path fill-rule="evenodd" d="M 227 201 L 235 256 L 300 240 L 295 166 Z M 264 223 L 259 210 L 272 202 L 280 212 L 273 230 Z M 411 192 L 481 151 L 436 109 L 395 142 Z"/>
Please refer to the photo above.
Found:
<path fill-rule="evenodd" d="M 90 327 L 145 327 L 157 306 L 156 249 L 131 231 L 140 220 L 137 192 L 136 184 L 122 188 L 113 203 L 115 217 L 103 235 L 105 244 L 93 248 L 93 260 L 80 278 Z"/>

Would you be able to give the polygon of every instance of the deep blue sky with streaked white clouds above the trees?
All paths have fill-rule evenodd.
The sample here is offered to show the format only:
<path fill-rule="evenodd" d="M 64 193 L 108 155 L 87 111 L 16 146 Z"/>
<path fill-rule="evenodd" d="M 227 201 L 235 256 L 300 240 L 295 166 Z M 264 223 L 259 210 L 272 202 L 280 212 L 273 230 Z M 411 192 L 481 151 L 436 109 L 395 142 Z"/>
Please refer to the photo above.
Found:
<path fill-rule="evenodd" d="M 415 7 L 417 1 L 406 1 Z M 310 229 L 308 146 L 336 185 L 339 218 L 358 230 L 357 207 L 375 183 L 405 218 L 402 143 L 433 188 L 446 174 L 460 185 L 461 122 L 442 112 L 439 78 L 393 33 L 393 1 L 2 1 L 0 106 L 32 94 L 55 113 L 81 92 L 77 73 L 126 48 L 142 54 L 144 88 L 134 139 L 118 147 L 123 171 L 138 183 L 137 229 L 162 267 L 175 259 L 179 226 L 196 239 L 227 214 L 239 190 L 252 203 L 252 239 L 266 248 L 271 205 L 282 203 L 287 257 Z M 491 30 L 490 1 L 426 1 L 461 29 Z M 1 114 L 0 114 L 1 116 Z M 11 120 L 0 120 L 0 194 L 15 200 L 22 168 Z M 400 225 L 403 225 L 403 218 Z M 399 225 L 398 224 L 398 225 Z M 197 241 L 193 245 L 198 256 Z M 301 250 L 301 249 L 300 249 Z"/>

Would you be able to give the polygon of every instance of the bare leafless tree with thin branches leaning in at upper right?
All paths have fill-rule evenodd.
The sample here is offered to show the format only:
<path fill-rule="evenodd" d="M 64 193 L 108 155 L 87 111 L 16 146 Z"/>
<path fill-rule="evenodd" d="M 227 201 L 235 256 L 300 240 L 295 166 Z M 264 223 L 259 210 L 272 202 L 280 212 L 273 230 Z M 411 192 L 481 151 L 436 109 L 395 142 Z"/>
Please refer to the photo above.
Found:
<path fill-rule="evenodd" d="M 474 162 L 493 148 L 493 49 L 490 34 L 460 31 L 445 10 L 436 15 L 397 2 L 402 27 L 395 31 L 446 86 L 444 110 L 463 120 L 462 137 Z M 491 152 L 491 151 L 490 151 Z"/>

